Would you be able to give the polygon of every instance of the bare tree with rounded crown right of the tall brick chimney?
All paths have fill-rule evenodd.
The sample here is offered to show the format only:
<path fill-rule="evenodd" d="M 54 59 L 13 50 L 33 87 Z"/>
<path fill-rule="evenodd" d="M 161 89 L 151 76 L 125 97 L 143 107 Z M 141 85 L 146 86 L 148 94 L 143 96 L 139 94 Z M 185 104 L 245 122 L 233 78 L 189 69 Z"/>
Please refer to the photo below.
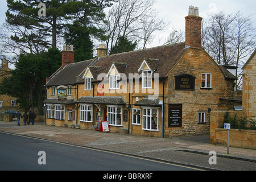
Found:
<path fill-rule="evenodd" d="M 210 14 L 203 22 L 202 46 L 218 64 L 235 65 L 237 78 L 242 65 L 256 48 L 255 28 L 250 17 L 243 16 L 240 11 L 228 15 L 220 11 Z M 236 88 L 240 81 L 236 81 Z"/>

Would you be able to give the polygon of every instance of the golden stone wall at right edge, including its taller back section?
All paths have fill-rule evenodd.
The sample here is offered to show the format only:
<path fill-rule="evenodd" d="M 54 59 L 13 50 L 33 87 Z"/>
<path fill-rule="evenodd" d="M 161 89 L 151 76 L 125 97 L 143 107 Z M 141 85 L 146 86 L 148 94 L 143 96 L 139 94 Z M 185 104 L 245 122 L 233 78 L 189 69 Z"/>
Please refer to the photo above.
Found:
<path fill-rule="evenodd" d="M 237 117 L 245 116 L 243 111 L 228 111 L 231 117 L 237 114 Z M 212 111 L 210 113 L 210 143 L 227 144 L 227 131 L 220 128 L 223 123 L 225 111 Z M 256 131 L 254 130 L 229 130 L 229 146 L 241 148 L 256 149 Z"/>

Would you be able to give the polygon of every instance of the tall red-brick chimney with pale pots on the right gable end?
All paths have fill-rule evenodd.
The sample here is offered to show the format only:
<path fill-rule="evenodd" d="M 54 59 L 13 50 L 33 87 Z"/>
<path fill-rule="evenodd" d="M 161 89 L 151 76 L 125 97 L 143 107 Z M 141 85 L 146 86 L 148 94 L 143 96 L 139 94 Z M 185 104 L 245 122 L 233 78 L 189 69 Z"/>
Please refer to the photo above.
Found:
<path fill-rule="evenodd" d="M 186 47 L 200 48 L 201 47 L 201 28 L 202 19 L 199 16 L 198 7 L 189 6 L 188 16 L 186 21 Z"/>

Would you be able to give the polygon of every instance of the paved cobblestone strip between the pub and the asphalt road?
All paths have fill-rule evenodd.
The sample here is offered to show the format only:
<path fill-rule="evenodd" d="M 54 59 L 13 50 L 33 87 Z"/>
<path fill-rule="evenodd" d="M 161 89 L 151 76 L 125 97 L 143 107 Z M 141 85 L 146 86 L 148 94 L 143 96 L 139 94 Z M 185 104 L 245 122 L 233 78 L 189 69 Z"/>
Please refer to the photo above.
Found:
<path fill-rule="evenodd" d="M 209 144 L 207 139 L 209 135 L 151 138 L 49 126 L 42 122 L 36 122 L 33 126 L 24 126 L 23 123 L 17 126 L 15 121 L 0 121 L 0 131 L 203 169 L 225 171 L 255 171 L 256 169 L 256 150 L 230 147 L 228 155 L 225 146 Z M 210 151 L 216 152 L 217 164 L 209 164 L 209 159 L 212 157 L 209 155 Z"/>

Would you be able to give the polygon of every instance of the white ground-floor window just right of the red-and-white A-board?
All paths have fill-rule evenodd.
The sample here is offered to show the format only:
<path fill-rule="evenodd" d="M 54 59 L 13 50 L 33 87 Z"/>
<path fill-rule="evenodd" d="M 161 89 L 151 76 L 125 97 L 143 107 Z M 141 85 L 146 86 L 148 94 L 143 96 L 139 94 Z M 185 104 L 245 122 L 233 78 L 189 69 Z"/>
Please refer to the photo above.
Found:
<path fill-rule="evenodd" d="M 108 106 L 109 125 L 122 126 L 122 106 Z"/>

